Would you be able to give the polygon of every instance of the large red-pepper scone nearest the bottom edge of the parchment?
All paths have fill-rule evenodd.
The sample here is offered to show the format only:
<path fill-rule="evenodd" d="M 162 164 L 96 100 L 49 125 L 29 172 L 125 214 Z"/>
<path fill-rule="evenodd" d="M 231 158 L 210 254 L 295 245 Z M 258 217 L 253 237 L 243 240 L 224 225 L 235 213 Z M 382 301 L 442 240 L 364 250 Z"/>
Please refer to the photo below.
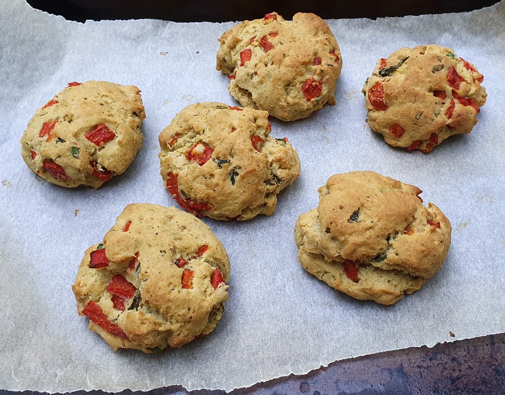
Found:
<path fill-rule="evenodd" d="M 114 350 L 150 353 L 212 332 L 229 274 L 226 250 L 198 218 L 130 204 L 104 241 L 86 250 L 72 289 L 90 331 Z"/>

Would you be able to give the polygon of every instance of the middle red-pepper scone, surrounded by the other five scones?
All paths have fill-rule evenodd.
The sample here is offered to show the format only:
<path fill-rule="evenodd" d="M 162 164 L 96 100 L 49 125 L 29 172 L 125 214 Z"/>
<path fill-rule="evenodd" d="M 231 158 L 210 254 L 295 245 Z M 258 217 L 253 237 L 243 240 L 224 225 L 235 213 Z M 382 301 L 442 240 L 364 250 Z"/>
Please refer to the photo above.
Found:
<path fill-rule="evenodd" d="M 223 103 L 184 108 L 159 136 L 165 186 L 197 216 L 242 221 L 273 214 L 300 162 L 287 138 L 270 137 L 271 129 L 266 111 Z"/>

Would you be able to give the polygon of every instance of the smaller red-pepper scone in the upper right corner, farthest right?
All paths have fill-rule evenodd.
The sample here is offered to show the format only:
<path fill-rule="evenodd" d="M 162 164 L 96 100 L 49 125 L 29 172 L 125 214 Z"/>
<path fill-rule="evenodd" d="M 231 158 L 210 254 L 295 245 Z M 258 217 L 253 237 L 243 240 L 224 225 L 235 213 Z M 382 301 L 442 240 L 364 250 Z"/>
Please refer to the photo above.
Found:
<path fill-rule="evenodd" d="M 380 59 L 365 82 L 368 124 L 386 143 L 424 153 L 470 133 L 486 102 L 484 77 L 450 48 L 402 48 Z"/>

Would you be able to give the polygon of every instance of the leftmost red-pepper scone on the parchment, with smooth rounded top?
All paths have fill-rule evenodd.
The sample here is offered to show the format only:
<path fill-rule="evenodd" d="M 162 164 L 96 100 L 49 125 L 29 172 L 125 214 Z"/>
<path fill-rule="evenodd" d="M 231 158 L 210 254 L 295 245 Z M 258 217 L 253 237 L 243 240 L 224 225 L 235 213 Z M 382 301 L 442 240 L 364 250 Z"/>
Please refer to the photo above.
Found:
<path fill-rule="evenodd" d="M 136 86 L 70 82 L 30 119 L 21 155 L 50 183 L 98 188 L 135 158 L 144 118 Z"/>

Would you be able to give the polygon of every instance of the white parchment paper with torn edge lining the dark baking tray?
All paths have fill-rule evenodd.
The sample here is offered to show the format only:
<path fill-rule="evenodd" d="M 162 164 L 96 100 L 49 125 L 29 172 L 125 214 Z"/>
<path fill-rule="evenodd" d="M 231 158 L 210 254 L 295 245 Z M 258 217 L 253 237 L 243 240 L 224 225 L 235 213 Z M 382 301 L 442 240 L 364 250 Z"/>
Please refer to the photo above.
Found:
<path fill-rule="evenodd" d="M 272 135 L 298 150 L 300 178 L 271 217 L 204 220 L 230 255 L 225 314 L 211 335 L 153 355 L 114 353 L 77 316 L 70 286 L 84 250 L 125 205 L 175 204 L 157 156 L 158 134 L 175 114 L 198 101 L 237 105 L 215 70 L 217 38 L 234 23 L 80 24 L 22 0 L 0 0 L 0 9 L 0 388 L 231 390 L 339 359 L 451 341 L 449 331 L 455 339 L 505 332 L 505 2 L 465 14 L 328 21 L 343 59 L 337 106 L 306 120 L 272 121 Z M 431 42 L 473 62 L 489 96 L 470 135 L 429 155 L 408 153 L 371 133 L 361 89 L 377 59 Z M 140 87 L 145 140 L 129 169 L 99 190 L 65 189 L 26 167 L 19 140 L 35 110 L 67 82 L 90 79 Z M 334 291 L 296 259 L 297 216 L 317 206 L 330 175 L 359 169 L 420 187 L 453 226 L 440 272 L 389 307 Z"/>

